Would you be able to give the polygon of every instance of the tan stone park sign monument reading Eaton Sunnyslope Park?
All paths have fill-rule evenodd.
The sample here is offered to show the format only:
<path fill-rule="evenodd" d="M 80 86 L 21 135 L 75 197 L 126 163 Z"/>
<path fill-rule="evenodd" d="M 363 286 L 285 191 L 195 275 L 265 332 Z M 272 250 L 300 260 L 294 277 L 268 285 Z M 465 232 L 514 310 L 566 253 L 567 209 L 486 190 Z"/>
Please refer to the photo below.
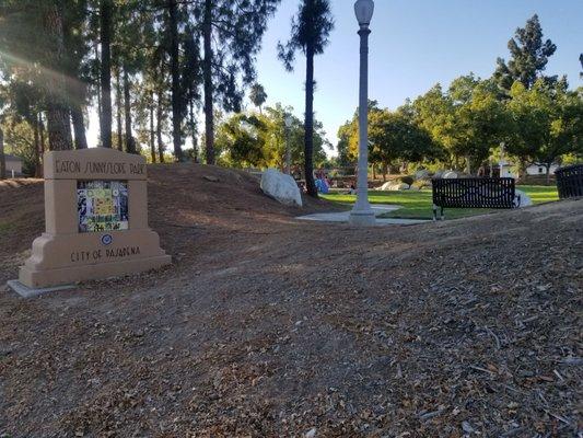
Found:
<path fill-rule="evenodd" d="M 171 263 L 148 227 L 141 155 L 92 148 L 45 153 L 46 231 L 19 280 L 31 289 L 103 279 Z"/>

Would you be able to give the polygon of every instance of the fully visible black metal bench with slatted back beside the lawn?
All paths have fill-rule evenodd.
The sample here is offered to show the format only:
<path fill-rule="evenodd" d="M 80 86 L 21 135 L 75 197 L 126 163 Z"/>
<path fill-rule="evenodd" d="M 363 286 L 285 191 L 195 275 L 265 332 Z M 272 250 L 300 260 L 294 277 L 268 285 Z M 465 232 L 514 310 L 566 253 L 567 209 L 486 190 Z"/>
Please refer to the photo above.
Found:
<path fill-rule="evenodd" d="M 433 178 L 433 220 L 444 208 L 516 208 L 521 205 L 512 177 Z"/>

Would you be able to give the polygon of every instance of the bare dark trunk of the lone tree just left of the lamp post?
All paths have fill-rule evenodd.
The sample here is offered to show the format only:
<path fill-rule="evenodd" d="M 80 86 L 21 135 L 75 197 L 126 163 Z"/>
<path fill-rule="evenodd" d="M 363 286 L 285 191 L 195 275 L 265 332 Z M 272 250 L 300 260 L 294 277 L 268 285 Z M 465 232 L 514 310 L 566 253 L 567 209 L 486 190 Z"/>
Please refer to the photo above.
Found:
<path fill-rule="evenodd" d="M 314 47 L 306 47 L 304 171 L 307 194 L 318 197 L 314 181 Z"/>

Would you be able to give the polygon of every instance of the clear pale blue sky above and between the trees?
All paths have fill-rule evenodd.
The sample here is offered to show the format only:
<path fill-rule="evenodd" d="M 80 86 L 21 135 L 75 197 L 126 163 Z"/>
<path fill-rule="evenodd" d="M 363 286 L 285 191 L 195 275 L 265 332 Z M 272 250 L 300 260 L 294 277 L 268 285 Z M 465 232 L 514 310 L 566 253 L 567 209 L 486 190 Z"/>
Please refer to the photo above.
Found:
<path fill-rule="evenodd" d="M 299 54 L 290 73 L 277 58 L 278 42 L 290 34 L 298 0 L 282 0 L 270 20 L 257 57 L 258 82 L 267 105 L 291 105 L 303 118 L 305 58 Z M 330 0 L 335 30 L 324 55 L 315 59 L 314 108 L 328 140 L 336 145 L 340 125 L 358 105 L 359 36 L 352 0 Z M 508 42 L 516 27 L 538 14 L 545 38 L 557 45 L 548 74 L 568 74 L 572 88 L 583 53 L 583 0 L 376 0 L 371 22 L 369 97 L 395 110 L 440 82 L 474 72 L 488 78 L 498 57 L 509 57 Z M 248 107 L 253 105 L 247 101 Z M 202 122 L 202 116 L 201 122 Z M 97 117 L 91 117 L 89 140 L 96 142 Z M 187 142 L 188 143 L 188 142 Z M 331 153 L 331 151 L 328 151 Z"/>

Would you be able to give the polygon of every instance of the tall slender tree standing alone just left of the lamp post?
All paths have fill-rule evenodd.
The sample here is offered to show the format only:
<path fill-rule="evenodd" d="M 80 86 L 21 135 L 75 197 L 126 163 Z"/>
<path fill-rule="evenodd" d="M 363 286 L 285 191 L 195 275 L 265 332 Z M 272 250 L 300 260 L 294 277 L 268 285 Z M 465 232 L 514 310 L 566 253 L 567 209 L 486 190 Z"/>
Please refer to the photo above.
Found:
<path fill-rule="evenodd" d="M 328 0 L 302 0 L 298 14 L 292 19 L 291 37 L 285 45 L 279 43 L 279 58 L 288 70 L 293 70 L 295 53 L 306 58 L 305 74 L 305 152 L 304 170 L 307 194 L 318 196 L 314 181 L 314 57 L 328 45 L 334 20 Z"/>

